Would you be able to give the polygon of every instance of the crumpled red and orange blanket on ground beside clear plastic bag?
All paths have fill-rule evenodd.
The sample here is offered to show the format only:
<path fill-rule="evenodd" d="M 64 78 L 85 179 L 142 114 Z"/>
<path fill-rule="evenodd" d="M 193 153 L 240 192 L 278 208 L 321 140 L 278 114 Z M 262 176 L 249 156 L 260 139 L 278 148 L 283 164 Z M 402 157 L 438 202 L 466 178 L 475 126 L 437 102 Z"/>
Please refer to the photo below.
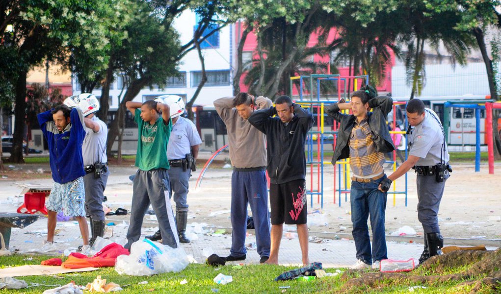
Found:
<path fill-rule="evenodd" d="M 122 245 L 111 243 L 92 257 L 78 252 L 71 253 L 68 259 L 61 265 L 65 268 L 115 266 L 118 255 L 122 254 L 129 255 L 130 253 Z"/>

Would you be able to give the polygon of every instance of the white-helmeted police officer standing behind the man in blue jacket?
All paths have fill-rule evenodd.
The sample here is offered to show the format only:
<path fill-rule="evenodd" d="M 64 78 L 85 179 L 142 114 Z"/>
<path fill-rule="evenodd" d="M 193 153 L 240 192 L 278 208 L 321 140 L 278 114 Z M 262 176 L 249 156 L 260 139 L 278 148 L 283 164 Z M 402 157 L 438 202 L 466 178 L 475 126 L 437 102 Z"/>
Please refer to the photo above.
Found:
<path fill-rule="evenodd" d="M 68 97 L 65 104 L 76 104 L 82 109 L 85 123 L 85 138 L 82 145 L 84 159 L 85 211 L 90 216 L 92 246 L 98 236 L 102 237 L 105 228 L 103 198 L 108 175 L 106 139 L 108 127 L 94 113 L 99 110 L 99 100 L 90 93 Z"/>

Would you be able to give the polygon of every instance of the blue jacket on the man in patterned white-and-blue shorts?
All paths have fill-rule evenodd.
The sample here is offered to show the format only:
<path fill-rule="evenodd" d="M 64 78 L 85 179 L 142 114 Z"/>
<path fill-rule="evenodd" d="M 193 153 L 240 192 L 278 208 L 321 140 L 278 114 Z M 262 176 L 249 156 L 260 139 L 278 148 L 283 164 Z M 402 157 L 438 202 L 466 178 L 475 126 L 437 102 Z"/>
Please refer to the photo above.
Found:
<path fill-rule="evenodd" d="M 70 123 L 59 131 L 49 111 L 37 115 L 40 128 L 49 144 L 52 178 L 58 183 L 74 181 L 85 175 L 82 143 L 85 138 L 84 116 L 75 107 L 70 112 Z"/>

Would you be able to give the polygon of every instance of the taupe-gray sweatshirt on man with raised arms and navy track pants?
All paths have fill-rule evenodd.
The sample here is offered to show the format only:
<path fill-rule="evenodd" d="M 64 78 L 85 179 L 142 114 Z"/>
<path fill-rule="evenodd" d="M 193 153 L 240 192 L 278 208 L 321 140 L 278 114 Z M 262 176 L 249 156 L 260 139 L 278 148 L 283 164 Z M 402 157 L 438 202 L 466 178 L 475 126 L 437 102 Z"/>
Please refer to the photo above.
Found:
<path fill-rule="evenodd" d="M 256 98 L 256 109 L 267 109 L 272 100 L 263 96 Z M 238 115 L 233 107 L 233 97 L 214 101 L 214 107 L 228 131 L 229 158 L 236 168 L 266 166 L 265 134 Z"/>

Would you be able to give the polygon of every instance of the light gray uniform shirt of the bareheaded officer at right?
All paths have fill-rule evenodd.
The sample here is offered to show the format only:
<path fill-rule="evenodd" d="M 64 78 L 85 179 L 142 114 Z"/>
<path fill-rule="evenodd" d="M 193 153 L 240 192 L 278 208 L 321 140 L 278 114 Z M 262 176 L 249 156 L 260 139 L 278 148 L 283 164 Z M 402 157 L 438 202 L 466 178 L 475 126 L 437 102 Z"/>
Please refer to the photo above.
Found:
<path fill-rule="evenodd" d="M 417 166 L 435 165 L 440 162 L 449 162 L 449 152 L 445 144 L 443 151 L 443 130 L 438 115 L 431 109 L 424 109 L 424 119 L 414 126 L 409 133 L 409 155 L 420 157 Z"/>

